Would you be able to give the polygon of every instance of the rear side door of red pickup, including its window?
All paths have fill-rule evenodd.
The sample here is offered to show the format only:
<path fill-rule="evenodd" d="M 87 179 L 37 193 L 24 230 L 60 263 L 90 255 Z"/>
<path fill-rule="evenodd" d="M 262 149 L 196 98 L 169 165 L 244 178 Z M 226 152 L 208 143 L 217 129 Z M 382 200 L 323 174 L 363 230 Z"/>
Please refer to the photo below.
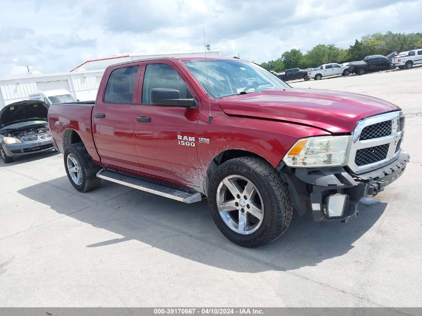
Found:
<path fill-rule="evenodd" d="M 108 79 L 102 81 L 92 110 L 95 146 L 107 168 L 139 171 L 133 119 L 139 66 L 116 66 L 107 70 L 104 76 Z"/>

